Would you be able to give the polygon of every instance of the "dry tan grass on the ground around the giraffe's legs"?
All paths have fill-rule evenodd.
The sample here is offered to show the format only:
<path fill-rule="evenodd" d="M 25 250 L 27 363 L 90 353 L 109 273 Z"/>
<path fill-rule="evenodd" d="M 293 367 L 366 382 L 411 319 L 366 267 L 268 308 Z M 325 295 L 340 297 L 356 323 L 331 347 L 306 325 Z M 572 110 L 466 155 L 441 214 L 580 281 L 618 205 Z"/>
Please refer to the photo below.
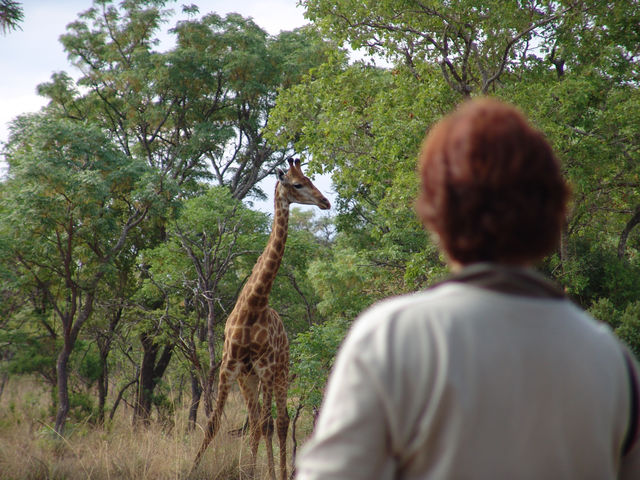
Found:
<path fill-rule="evenodd" d="M 170 430 L 152 424 L 132 428 L 131 412 L 119 411 L 105 428 L 68 424 L 64 438 L 53 432 L 47 417 L 48 394 L 33 381 L 12 379 L 0 397 L 1 480 L 164 480 L 186 479 L 202 431 L 187 432 L 187 410 L 180 409 Z M 239 478 L 251 454 L 248 439 L 226 432 L 242 425 L 245 408 L 239 395 L 232 395 L 225 408 L 220 433 L 209 446 L 193 480 Z M 200 412 L 199 422 L 206 419 Z M 257 477 L 267 475 L 263 444 Z M 289 447 L 289 457 L 291 447 Z M 277 468 L 277 441 L 274 456 Z M 289 465 L 290 470 L 290 465 Z"/>

